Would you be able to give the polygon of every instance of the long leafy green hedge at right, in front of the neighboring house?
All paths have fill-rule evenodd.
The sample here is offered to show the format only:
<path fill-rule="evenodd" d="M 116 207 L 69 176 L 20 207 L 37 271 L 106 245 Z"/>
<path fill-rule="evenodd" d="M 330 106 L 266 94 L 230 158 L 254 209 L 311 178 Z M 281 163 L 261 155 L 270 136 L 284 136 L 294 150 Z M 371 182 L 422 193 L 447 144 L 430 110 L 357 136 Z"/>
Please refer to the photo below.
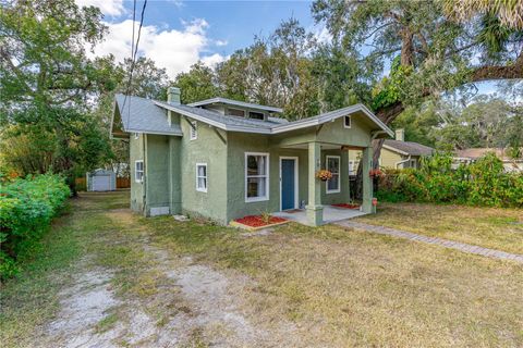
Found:
<path fill-rule="evenodd" d="M 419 170 L 386 171 L 378 187 L 376 196 L 392 202 L 523 207 L 523 174 L 504 173 L 494 153 L 457 169 L 450 154 L 436 153 L 423 159 Z"/>

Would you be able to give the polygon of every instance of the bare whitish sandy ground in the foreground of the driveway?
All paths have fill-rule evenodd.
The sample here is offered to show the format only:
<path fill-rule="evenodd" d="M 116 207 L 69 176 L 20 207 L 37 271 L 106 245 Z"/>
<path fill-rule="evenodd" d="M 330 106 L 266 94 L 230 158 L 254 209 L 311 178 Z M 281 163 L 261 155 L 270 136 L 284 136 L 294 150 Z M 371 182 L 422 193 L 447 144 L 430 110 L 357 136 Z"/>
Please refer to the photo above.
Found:
<path fill-rule="evenodd" d="M 127 211 L 108 215 L 125 224 L 135 219 Z M 146 229 L 139 232 L 147 258 L 156 262 L 146 271 L 161 279 L 157 293 L 119 298 L 110 285 L 115 270 L 81 268 L 74 285 L 60 293 L 60 313 L 40 347 L 297 346 L 290 323 L 272 330 L 253 324 L 256 313 L 244 303 L 252 279 L 170 254 L 149 243 Z"/>

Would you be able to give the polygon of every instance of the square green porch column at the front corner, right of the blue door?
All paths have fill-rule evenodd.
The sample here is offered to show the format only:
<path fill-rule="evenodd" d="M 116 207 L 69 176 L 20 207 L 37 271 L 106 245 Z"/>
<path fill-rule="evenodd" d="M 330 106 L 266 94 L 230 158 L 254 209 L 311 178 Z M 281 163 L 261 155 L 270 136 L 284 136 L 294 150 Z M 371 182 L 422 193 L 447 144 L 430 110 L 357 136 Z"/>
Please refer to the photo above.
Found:
<path fill-rule="evenodd" d="M 316 172 L 321 167 L 321 148 L 319 142 L 308 142 L 308 223 L 319 226 L 324 223 L 324 207 L 321 206 L 321 183 L 316 178 Z"/>

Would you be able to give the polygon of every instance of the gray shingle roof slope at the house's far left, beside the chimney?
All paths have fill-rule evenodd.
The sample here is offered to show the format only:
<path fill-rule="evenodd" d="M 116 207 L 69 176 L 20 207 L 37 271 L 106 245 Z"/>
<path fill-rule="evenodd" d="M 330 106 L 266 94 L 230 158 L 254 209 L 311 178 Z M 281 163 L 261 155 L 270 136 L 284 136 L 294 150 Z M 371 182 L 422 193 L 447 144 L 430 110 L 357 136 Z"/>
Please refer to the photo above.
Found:
<path fill-rule="evenodd" d="M 117 95 L 115 101 L 122 116 L 124 132 L 182 135 L 180 125 L 170 126 L 167 121 L 167 111 L 157 107 L 153 100 L 131 96 L 125 99 L 124 95 Z"/>

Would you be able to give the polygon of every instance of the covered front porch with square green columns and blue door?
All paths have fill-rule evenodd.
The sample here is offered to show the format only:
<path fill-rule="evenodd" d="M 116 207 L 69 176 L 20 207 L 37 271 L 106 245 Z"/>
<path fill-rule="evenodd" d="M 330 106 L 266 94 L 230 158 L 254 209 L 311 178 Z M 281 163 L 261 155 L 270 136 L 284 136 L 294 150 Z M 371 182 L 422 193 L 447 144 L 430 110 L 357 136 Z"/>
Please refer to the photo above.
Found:
<path fill-rule="evenodd" d="M 287 138 L 288 142 L 293 139 Z M 280 211 L 275 216 L 285 217 L 309 226 L 320 226 L 335 221 L 351 219 L 374 212 L 373 185 L 369 175 L 363 175 L 363 200 L 360 210 L 333 207 L 335 203 L 348 203 L 351 201 L 349 182 L 349 150 L 362 151 L 363 172 L 369 173 L 373 161 L 373 148 L 361 145 L 346 145 L 327 141 L 308 141 L 302 144 L 285 144 L 279 148 L 279 152 L 285 149 L 302 152 L 302 159 L 279 156 L 280 176 Z M 284 153 L 284 152 L 280 152 Z M 305 154 L 305 156 L 303 156 Z M 289 164 L 290 170 L 283 165 Z M 300 169 L 297 169 L 300 166 Z M 327 169 L 333 173 L 331 181 L 324 182 L 316 177 L 316 173 Z M 299 173 L 305 175 L 299 175 Z M 297 194 L 299 182 L 304 181 L 306 189 Z M 306 195 L 306 196 L 305 196 Z M 303 203 L 299 197 L 303 198 Z M 301 208 L 301 209 L 297 209 Z"/>

